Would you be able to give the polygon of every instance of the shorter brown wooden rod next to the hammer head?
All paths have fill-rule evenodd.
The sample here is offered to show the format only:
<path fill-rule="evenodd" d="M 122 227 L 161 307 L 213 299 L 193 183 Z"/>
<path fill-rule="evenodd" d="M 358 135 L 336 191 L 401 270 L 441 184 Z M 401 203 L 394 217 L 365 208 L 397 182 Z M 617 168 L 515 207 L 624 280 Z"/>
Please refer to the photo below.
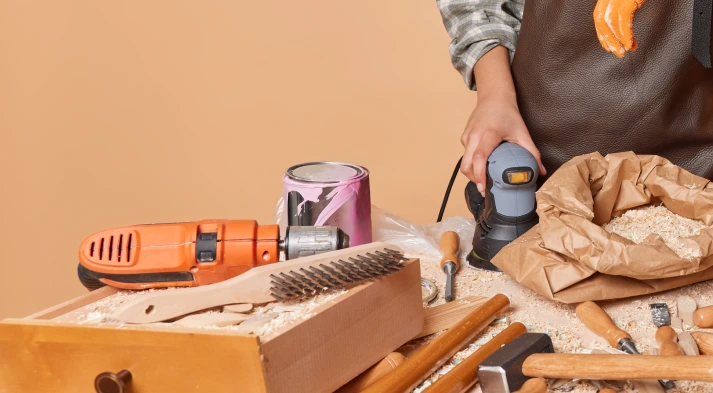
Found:
<path fill-rule="evenodd" d="M 477 381 L 476 372 L 480 363 L 500 347 L 525 332 L 527 332 L 525 325 L 519 322 L 511 324 L 507 329 L 493 337 L 492 340 L 478 348 L 472 355 L 446 373 L 446 375 L 439 378 L 433 385 L 426 388 L 423 393 L 461 393 L 467 391 Z"/>

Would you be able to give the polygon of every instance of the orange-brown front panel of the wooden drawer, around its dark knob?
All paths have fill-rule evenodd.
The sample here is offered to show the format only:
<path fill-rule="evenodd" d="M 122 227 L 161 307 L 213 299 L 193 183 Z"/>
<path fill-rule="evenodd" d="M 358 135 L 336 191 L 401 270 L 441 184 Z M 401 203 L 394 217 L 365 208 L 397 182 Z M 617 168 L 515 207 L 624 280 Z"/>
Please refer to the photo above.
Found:
<path fill-rule="evenodd" d="M 132 373 L 132 392 L 265 393 L 256 337 L 0 322 L 0 392 L 92 393 L 102 372 Z"/>

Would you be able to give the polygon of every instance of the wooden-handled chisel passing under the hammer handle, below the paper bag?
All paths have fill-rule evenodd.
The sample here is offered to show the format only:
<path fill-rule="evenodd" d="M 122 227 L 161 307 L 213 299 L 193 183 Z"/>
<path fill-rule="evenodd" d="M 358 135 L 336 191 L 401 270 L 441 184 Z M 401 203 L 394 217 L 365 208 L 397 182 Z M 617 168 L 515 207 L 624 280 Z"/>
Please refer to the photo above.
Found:
<path fill-rule="evenodd" d="M 577 305 L 576 314 L 589 330 L 596 335 L 604 338 L 613 348 L 624 351 L 632 355 L 640 355 L 634 345 L 629 333 L 619 329 L 611 317 L 596 303 L 583 302 Z M 671 389 L 676 386 L 673 381 L 659 381 L 661 386 L 666 389 Z"/>

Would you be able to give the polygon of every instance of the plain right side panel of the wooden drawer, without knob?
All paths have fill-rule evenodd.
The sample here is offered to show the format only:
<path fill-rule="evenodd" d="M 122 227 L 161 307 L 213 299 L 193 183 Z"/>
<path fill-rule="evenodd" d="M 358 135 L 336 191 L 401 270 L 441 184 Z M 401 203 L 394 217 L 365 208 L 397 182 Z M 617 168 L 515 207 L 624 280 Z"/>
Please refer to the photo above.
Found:
<path fill-rule="evenodd" d="M 418 260 L 262 343 L 270 393 L 333 392 L 423 328 Z"/>

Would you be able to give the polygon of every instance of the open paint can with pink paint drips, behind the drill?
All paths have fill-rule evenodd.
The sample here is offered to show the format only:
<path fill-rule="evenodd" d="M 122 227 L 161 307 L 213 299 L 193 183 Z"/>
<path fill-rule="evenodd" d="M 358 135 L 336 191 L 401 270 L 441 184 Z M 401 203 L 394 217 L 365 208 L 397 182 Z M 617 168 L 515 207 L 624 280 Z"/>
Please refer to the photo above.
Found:
<path fill-rule="evenodd" d="M 334 226 L 351 246 L 371 243 L 369 171 L 341 162 L 295 165 L 283 178 L 287 224 Z"/>

